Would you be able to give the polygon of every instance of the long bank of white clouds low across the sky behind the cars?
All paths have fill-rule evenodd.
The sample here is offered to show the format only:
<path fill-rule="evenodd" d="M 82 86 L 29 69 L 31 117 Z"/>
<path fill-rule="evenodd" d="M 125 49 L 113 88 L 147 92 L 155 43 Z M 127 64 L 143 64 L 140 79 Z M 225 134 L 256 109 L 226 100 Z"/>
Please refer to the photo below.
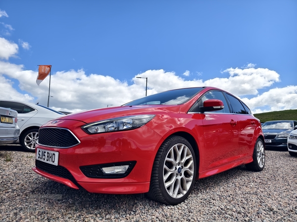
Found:
<path fill-rule="evenodd" d="M 99 74 L 87 75 L 84 70 L 69 70 L 51 74 L 49 106 L 60 111 L 82 111 L 104 108 L 112 104 L 120 106 L 129 101 L 145 96 L 146 79 L 148 77 L 148 95 L 165 90 L 215 86 L 235 96 L 258 94 L 257 89 L 271 86 L 279 81 L 279 74 L 268 69 L 227 69 L 229 78 L 213 78 L 208 80 L 185 80 L 174 72 L 164 70 L 148 70 L 137 74 L 130 84 Z M 0 98 L 15 99 L 28 102 L 39 102 L 47 105 L 49 77 L 38 87 L 37 70 L 24 70 L 24 66 L 0 61 Z M 18 80 L 18 88 L 10 79 Z M 2 90 L 4 89 L 4 90 Z M 19 91 L 25 92 L 20 93 Z M 242 99 L 253 113 L 297 109 L 297 86 L 274 88 L 251 99 Z"/>

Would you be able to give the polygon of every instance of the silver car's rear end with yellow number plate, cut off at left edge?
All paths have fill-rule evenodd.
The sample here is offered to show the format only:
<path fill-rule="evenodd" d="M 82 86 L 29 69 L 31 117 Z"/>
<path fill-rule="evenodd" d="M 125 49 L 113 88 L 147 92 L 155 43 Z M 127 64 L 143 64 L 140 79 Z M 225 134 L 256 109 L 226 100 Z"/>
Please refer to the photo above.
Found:
<path fill-rule="evenodd" d="M 19 135 L 17 111 L 0 107 L 0 144 L 15 143 Z"/>

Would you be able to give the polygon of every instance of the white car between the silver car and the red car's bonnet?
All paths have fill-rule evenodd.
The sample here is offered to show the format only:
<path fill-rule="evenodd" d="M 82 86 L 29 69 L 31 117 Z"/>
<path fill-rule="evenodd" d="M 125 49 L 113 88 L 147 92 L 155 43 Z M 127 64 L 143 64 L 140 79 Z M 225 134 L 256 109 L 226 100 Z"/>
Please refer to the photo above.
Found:
<path fill-rule="evenodd" d="M 26 151 L 31 152 L 35 152 L 35 147 L 38 143 L 39 127 L 49 120 L 65 115 L 39 104 L 14 100 L 0 100 L 0 107 L 10 108 L 18 112 L 17 125 L 20 128 L 20 136 L 17 142 Z"/>

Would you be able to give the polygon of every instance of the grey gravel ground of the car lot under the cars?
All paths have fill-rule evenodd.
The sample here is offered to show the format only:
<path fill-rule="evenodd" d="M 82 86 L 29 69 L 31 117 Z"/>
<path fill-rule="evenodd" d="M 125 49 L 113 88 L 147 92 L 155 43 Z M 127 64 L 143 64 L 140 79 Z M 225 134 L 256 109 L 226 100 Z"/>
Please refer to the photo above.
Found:
<path fill-rule="evenodd" d="M 184 203 L 167 206 L 69 188 L 34 173 L 34 153 L 13 150 L 0 146 L 1 222 L 297 222 L 297 158 L 287 151 L 266 150 L 262 172 L 241 166 L 198 180 Z"/>

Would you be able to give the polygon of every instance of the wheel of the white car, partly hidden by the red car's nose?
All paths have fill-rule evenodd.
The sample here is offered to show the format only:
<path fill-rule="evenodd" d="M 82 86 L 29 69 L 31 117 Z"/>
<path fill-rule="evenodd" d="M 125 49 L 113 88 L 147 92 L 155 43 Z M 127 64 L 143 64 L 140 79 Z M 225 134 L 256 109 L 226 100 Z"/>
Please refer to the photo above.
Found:
<path fill-rule="evenodd" d="M 38 129 L 30 129 L 25 131 L 20 137 L 22 148 L 29 152 L 35 152 L 38 143 Z"/>

